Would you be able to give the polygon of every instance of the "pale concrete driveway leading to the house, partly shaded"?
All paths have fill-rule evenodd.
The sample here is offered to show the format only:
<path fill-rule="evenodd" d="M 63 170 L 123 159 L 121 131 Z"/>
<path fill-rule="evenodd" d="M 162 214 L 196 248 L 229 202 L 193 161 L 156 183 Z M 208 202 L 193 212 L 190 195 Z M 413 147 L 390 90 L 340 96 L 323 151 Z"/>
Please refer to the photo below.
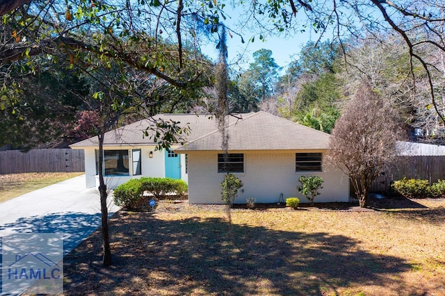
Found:
<path fill-rule="evenodd" d="M 118 211 L 108 197 L 110 215 Z M 85 189 L 85 175 L 56 183 L 0 204 L 0 237 L 15 233 L 60 233 L 63 254 L 100 227 L 99 192 Z"/>

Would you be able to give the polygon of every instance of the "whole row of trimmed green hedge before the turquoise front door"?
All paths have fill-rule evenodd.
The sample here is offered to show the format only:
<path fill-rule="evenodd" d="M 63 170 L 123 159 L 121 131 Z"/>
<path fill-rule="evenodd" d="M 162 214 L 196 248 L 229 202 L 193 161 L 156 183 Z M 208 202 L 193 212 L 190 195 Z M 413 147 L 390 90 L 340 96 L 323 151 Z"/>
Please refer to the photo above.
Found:
<path fill-rule="evenodd" d="M 114 190 L 114 201 L 122 208 L 138 208 L 144 204 L 143 193 L 151 193 L 154 199 L 165 199 L 165 196 L 174 192 L 179 197 L 184 197 L 188 190 L 187 183 L 183 180 L 170 178 L 142 177 L 131 179 L 121 184 Z"/>

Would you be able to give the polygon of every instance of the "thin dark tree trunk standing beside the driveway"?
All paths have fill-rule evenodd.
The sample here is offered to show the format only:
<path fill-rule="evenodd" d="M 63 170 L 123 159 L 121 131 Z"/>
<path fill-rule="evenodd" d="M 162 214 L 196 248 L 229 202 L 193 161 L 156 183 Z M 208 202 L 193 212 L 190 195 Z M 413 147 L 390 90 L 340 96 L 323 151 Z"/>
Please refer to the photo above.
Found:
<path fill-rule="evenodd" d="M 111 248 L 110 235 L 108 232 L 108 208 L 106 207 L 106 185 L 104 181 L 104 131 L 98 135 L 99 137 L 99 194 L 100 194 L 100 212 L 102 217 L 102 242 L 104 249 L 104 257 L 102 263 L 104 266 L 111 265 Z"/>

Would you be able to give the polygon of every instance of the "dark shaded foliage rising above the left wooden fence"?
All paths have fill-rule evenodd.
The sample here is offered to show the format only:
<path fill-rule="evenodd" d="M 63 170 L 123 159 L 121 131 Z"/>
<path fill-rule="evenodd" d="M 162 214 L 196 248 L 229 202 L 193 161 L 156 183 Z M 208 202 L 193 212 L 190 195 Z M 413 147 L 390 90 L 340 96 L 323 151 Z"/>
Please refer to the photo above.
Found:
<path fill-rule="evenodd" d="M 81 106 L 74 92 L 85 93 L 86 88 L 70 70 L 45 61 L 41 66 L 46 69 L 29 73 L 29 67 L 17 62 L 3 79 L 0 146 L 10 144 L 31 149 L 37 145 L 63 145 L 66 126 L 74 121 L 76 110 Z"/>

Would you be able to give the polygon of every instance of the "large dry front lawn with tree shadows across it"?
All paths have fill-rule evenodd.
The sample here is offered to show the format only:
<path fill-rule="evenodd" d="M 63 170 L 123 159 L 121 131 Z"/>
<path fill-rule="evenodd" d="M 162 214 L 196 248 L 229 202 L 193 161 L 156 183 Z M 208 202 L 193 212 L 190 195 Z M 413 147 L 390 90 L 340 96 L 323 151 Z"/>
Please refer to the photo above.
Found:
<path fill-rule="evenodd" d="M 111 219 L 65 257 L 66 295 L 445 295 L 445 200 L 356 208 L 160 204 Z M 346 211 L 345 211 L 346 210 Z"/>

